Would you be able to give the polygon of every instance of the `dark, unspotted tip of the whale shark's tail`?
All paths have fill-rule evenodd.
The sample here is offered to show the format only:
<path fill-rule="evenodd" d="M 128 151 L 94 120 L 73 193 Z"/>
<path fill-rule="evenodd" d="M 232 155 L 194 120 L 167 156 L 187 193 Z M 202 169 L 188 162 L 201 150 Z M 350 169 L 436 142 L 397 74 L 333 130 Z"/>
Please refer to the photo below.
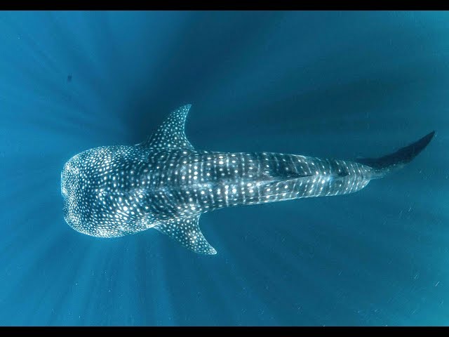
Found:
<path fill-rule="evenodd" d="M 415 143 L 410 144 L 406 147 L 402 147 L 398 151 L 387 154 L 384 157 L 380 158 L 363 158 L 358 159 L 357 161 L 361 164 L 365 164 L 373 167 L 373 169 L 386 169 L 390 166 L 396 166 L 397 164 L 407 164 L 413 158 L 415 158 L 422 150 L 424 150 L 427 145 L 429 145 L 432 138 L 435 136 L 435 131 L 428 133 L 426 136 L 422 137 L 420 140 L 417 140 Z"/>

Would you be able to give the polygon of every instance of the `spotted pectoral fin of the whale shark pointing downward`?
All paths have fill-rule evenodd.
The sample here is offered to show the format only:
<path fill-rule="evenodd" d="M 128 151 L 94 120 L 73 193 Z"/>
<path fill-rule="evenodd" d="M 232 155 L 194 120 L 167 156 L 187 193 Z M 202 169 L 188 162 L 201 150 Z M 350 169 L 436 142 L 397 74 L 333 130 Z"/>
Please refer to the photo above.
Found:
<path fill-rule="evenodd" d="M 214 255 L 217 253 L 213 246 L 203 237 L 199 229 L 198 216 L 188 216 L 170 220 L 159 220 L 154 226 L 159 232 L 167 234 L 186 248 L 199 254 Z"/>

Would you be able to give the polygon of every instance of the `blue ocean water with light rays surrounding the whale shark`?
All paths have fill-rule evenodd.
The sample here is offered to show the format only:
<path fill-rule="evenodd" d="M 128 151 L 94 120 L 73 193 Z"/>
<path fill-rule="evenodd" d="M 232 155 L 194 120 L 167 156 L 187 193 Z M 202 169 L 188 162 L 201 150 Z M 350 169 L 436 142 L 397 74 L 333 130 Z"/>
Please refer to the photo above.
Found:
<path fill-rule="evenodd" d="M 1 12 L 0 325 L 449 325 L 448 12 Z M 192 103 L 197 148 L 351 159 L 432 130 L 360 192 L 79 234 L 74 154 Z"/>

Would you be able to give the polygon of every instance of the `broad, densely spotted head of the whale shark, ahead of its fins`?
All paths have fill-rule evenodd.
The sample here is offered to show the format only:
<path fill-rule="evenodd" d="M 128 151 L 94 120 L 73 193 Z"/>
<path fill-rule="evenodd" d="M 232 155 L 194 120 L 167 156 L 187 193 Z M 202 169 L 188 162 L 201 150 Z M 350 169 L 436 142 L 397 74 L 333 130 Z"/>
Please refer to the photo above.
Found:
<path fill-rule="evenodd" d="M 140 147 L 126 146 L 95 147 L 69 159 L 61 171 L 67 224 L 93 237 L 121 237 L 151 227 L 146 185 L 140 185 L 146 159 Z"/>

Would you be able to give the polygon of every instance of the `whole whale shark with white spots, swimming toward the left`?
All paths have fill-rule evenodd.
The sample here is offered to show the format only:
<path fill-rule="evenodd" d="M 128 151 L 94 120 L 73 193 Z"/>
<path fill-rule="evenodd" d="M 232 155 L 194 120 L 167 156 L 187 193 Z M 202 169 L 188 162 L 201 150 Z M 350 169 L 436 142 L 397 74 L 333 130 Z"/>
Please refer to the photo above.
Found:
<path fill-rule="evenodd" d="M 202 213 L 356 192 L 401 169 L 435 134 L 384 157 L 354 160 L 203 151 L 185 135 L 191 106 L 173 110 L 142 143 L 96 147 L 69 159 L 61 172 L 67 224 L 103 238 L 154 228 L 187 249 L 214 255 L 199 227 Z"/>

